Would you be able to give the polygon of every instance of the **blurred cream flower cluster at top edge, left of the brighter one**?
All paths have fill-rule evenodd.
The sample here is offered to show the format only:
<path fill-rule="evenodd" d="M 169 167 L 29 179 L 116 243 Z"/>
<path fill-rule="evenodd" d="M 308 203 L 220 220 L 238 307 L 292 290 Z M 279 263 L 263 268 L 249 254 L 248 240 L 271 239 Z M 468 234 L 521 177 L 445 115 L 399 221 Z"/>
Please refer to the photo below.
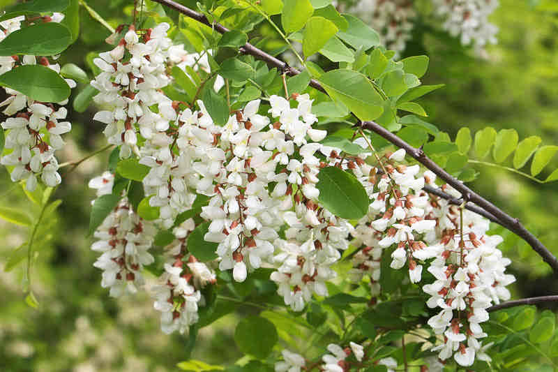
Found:
<path fill-rule="evenodd" d="M 389 50 L 405 50 L 416 16 L 412 1 L 361 0 L 349 11 L 367 20 L 370 27 L 379 32 L 382 42 Z"/>

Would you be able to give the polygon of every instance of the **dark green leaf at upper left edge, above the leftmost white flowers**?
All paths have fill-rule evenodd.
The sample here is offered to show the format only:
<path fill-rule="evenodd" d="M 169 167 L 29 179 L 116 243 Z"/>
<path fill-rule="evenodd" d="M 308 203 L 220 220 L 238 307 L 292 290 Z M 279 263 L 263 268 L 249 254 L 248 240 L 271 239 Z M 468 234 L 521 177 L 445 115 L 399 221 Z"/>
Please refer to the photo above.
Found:
<path fill-rule="evenodd" d="M 68 27 L 56 22 L 35 24 L 13 31 L 0 43 L 0 56 L 33 54 L 52 56 L 72 43 Z"/>

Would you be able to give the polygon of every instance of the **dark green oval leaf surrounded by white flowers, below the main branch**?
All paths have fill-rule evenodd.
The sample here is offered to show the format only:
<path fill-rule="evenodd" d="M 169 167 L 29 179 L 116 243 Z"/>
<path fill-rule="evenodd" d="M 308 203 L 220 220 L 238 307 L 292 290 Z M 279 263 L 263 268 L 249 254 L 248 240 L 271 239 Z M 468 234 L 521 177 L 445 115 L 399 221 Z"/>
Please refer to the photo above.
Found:
<path fill-rule="evenodd" d="M 368 195 L 360 182 L 335 167 L 322 168 L 317 174 L 318 200 L 335 216 L 357 220 L 368 212 Z"/>

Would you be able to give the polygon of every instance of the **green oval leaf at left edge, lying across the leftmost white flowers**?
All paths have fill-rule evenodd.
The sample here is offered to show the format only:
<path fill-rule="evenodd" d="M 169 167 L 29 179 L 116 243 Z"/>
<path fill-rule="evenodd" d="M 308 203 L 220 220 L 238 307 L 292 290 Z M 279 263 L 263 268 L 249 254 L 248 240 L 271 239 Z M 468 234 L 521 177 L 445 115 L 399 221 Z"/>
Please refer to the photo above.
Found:
<path fill-rule="evenodd" d="M 48 67 L 26 65 L 0 75 L 0 85 L 19 91 L 32 100 L 61 102 L 70 96 L 70 87 Z"/>

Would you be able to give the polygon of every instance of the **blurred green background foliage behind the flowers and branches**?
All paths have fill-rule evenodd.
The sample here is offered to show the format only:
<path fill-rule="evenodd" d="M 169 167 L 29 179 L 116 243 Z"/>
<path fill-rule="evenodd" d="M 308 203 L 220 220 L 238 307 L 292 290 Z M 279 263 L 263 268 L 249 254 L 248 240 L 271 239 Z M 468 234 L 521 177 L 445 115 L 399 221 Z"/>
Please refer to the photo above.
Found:
<path fill-rule="evenodd" d="M 500 3 L 491 18 L 500 29 L 499 43 L 488 47 L 483 59 L 434 29 L 425 21 L 429 19 L 425 10 L 405 55 L 428 54 L 430 68 L 424 83 L 444 83 L 446 87 L 421 103 L 430 121 L 452 138 L 461 126 L 469 126 L 473 132 L 492 126 L 496 130 L 515 128 L 520 140 L 540 135 L 543 144 L 558 144 L 558 13 L 533 1 Z M 89 1 L 113 26 L 126 22 L 130 4 L 127 0 Z M 61 63 L 72 61 L 87 69 L 89 52 L 107 50 L 103 40 L 108 32 L 83 8 L 80 16 L 82 29 L 89 32 L 81 34 Z M 269 32 L 266 30 L 269 27 L 254 34 Z M 83 114 L 70 110 L 73 131 L 65 137 L 68 146 L 59 156 L 61 162 L 103 147 L 103 128 L 91 120 L 93 113 L 92 107 Z M 176 370 L 176 363 L 185 359 L 186 337 L 160 332 L 158 312 L 145 292 L 112 299 L 100 287 L 100 271 L 93 267 L 96 253 L 90 251 L 91 238 L 86 237 L 89 202 L 94 197 L 86 185 L 104 170 L 107 155 L 92 158 L 63 176 L 56 191 L 55 198 L 63 204 L 52 230 L 54 241 L 38 252 L 33 269 L 39 308 L 24 303 L 24 265 L 8 273 L 0 271 L 0 371 L 163 372 Z M 558 254 L 558 183 L 539 185 L 513 173 L 482 166 L 476 169 L 481 177 L 471 186 L 520 218 Z M 0 204 L 29 206 L 4 168 L 0 168 Z M 13 248 L 22 244 L 25 233 L 24 228 L 0 220 L 0 267 Z M 514 297 L 558 293 L 558 281 L 550 268 L 529 246 L 509 234 L 505 237 L 502 249 L 513 260 L 510 270 L 518 276 Z M 193 357 L 215 364 L 234 362 L 241 355 L 232 339 L 238 316 L 227 315 L 202 329 Z"/>

